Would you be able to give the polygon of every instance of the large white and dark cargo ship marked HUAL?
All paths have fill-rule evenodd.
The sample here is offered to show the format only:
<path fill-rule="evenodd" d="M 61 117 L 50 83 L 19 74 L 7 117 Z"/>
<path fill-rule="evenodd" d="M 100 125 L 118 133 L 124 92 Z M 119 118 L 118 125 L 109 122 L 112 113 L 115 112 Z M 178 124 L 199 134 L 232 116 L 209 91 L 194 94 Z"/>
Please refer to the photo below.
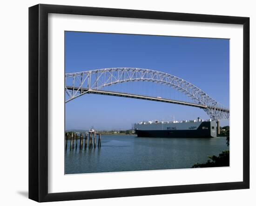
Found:
<path fill-rule="evenodd" d="M 134 124 L 138 137 L 210 138 L 217 136 L 216 120 L 142 121 Z"/>

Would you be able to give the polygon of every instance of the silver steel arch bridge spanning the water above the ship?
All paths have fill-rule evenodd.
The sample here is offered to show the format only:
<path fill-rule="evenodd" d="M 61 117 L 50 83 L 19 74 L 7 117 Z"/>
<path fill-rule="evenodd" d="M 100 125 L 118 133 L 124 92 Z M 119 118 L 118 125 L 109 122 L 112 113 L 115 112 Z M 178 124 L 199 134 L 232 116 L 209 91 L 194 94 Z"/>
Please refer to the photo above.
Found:
<path fill-rule="evenodd" d="M 148 81 L 169 86 L 188 96 L 191 100 L 193 100 L 193 103 L 101 90 L 101 88 L 105 86 L 129 81 Z M 213 120 L 229 119 L 229 109 L 222 106 L 219 102 L 211 98 L 207 93 L 203 92 L 197 86 L 174 75 L 150 69 L 118 67 L 96 69 L 77 73 L 66 73 L 65 91 L 67 93 L 67 99 L 65 101 L 66 103 L 86 93 L 98 93 L 195 106 L 202 108 Z"/>

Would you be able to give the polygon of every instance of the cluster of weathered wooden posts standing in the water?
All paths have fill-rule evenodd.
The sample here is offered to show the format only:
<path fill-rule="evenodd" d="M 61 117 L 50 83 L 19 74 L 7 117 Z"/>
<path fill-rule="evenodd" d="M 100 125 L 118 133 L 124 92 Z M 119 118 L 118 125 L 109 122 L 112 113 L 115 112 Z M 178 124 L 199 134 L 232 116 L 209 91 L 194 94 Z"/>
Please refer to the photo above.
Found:
<path fill-rule="evenodd" d="M 85 138 L 84 138 L 85 135 Z M 89 137 L 88 137 L 89 136 Z M 79 148 L 82 149 L 83 147 L 87 148 L 87 142 L 88 142 L 88 148 L 95 148 L 96 147 L 96 136 L 97 133 L 95 132 L 89 132 L 89 133 L 80 133 L 80 142 L 79 142 Z M 68 134 L 65 133 L 65 140 L 66 140 L 66 149 L 67 149 L 67 138 Z M 87 141 L 89 138 L 89 141 Z M 79 135 L 78 133 L 71 133 L 71 139 L 70 139 L 70 149 L 74 149 L 78 147 L 78 139 Z M 84 146 L 83 146 L 84 144 Z M 98 147 L 101 147 L 101 134 L 98 133 Z"/>

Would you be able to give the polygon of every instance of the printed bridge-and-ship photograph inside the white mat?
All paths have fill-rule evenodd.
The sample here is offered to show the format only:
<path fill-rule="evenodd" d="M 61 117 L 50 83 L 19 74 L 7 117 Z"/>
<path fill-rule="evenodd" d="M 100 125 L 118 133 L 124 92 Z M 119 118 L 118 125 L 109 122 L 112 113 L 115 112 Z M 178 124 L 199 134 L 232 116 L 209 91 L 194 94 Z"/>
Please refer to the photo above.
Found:
<path fill-rule="evenodd" d="M 63 92 L 65 174 L 229 166 L 229 39 L 65 31 Z"/>

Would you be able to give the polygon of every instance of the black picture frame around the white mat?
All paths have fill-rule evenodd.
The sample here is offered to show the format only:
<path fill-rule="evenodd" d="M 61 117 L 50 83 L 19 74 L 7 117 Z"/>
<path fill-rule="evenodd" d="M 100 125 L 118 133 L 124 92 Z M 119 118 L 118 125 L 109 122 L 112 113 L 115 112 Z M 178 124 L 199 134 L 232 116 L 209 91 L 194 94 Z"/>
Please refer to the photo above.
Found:
<path fill-rule="evenodd" d="M 48 193 L 48 13 L 243 25 L 243 181 Z M 249 188 L 249 18 L 39 4 L 29 8 L 29 199 L 38 202 L 98 199 Z"/>

